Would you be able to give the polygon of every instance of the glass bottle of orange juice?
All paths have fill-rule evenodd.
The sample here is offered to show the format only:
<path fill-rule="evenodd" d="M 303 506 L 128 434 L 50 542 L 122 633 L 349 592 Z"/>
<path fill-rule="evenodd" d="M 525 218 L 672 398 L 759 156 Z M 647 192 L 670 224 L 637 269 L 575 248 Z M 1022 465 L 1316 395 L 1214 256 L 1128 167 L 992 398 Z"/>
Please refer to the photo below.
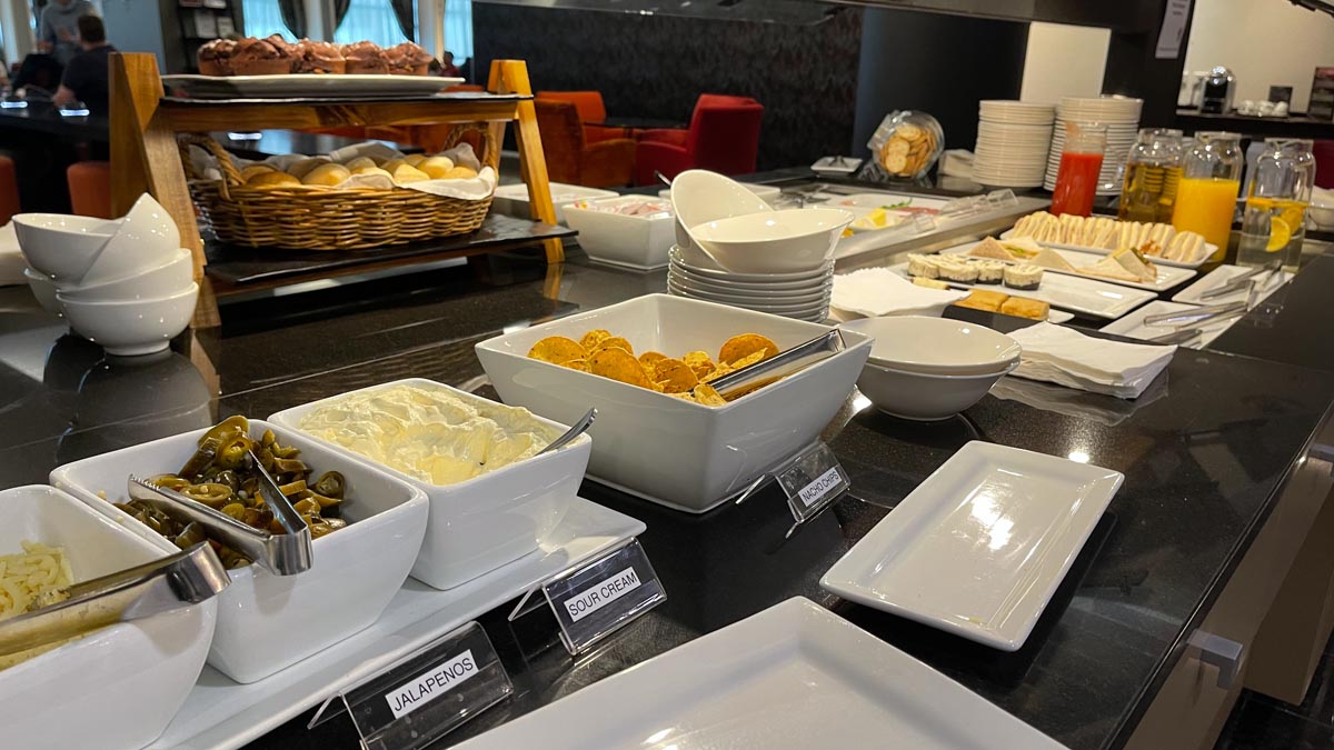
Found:
<path fill-rule="evenodd" d="M 1177 231 L 1198 232 L 1217 246 L 1211 260 L 1222 260 L 1233 234 L 1237 194 L 1241 192 L 1242 136 L 1201 132 L 1182 153 L 1182 177 L 1171 223 Z"/>

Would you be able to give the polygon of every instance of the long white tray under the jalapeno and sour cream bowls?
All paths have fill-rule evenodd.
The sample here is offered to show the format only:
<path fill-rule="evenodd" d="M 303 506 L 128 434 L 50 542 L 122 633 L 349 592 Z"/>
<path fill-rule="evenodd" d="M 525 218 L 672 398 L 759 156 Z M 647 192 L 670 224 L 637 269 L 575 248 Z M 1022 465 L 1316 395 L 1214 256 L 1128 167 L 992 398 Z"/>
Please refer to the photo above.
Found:
<path fill-rule="evenodd" d="M 204 667 L 185 705 L 149 747 L 241 747 L 430 641 L 643 531 L 644 524 L 634 518 L 575 498 L 536 552 L 448 591 L 410 578 L 375 625 L 269 678 L 239 685 Z"/>

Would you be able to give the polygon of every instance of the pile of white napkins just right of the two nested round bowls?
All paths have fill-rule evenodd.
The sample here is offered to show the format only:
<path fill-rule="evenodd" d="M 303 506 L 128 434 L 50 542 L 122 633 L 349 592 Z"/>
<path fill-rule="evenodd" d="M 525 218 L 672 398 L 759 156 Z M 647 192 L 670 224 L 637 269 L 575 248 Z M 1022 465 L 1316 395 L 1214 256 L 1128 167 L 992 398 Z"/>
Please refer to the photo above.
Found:
<path fill-rule="evenodd" d="M 1022 328 L 1010 338 L 1023 347 L 1013 375 L 1122 399 L 1139 398 L 1177 352 L 1175 346 L 1094 339 L 1051 323 Z"/>

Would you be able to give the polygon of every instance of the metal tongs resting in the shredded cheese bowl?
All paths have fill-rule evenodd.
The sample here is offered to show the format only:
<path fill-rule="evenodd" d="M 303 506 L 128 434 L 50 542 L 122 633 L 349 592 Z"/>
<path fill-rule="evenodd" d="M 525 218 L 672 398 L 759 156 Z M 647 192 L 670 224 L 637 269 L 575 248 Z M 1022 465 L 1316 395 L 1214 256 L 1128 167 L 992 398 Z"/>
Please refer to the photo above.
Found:
<path fill-rule="evenodd" d="M 0 622 L 0 655 L 197 605 L 231 583 L 207 542 L 144 565 L 75 583 L 69 598 Z"/>

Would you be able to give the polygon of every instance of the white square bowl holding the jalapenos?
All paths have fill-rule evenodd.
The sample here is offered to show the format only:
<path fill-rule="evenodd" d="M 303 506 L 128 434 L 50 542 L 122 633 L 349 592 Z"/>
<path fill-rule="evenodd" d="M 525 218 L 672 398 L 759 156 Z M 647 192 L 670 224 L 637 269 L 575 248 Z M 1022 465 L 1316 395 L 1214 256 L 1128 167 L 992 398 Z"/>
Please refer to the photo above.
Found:
<path fill-rule="evenodd" d="M 251 435 L 272 428 L 277 442 L 301 450 L 315 475 L 336 470 L 347 479 L 346 528 L 312 542 L 315 562 L 297 575 L 275 575 L 257 565 L 228 571 L 232 585 L 219 597 L 217 631 L 208 663 L 249 683 L 283 670 L 379 619 L 403 585 L 422 547 L 427 502 L 420 490 L 304 435 L 252 419 Z M 67 463 L 51 483 L 151 540 L 176 544 L 116 508 L 131 475 L 176 471 L 193 455 L 195 430 L 141 446 Z M 99 496 L 105 492 L 112 500 Z"/>

